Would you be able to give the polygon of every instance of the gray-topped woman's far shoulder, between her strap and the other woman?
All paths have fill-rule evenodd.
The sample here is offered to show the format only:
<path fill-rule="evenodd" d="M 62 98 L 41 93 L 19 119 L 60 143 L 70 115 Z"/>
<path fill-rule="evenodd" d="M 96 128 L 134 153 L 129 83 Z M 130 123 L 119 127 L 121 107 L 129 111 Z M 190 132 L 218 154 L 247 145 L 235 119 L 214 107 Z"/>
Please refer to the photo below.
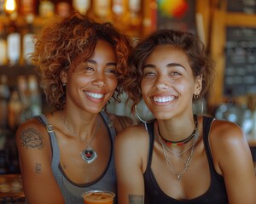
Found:
<path fill-rule="evenodd" d="M 137 122 L 129 116 L 117 116 L 111 113 L 108 113 L 108 116 L 112 120 L 113 127 L 115 127 L 117 133 L 125 129 L 125 127 L 137 124 Z"/>

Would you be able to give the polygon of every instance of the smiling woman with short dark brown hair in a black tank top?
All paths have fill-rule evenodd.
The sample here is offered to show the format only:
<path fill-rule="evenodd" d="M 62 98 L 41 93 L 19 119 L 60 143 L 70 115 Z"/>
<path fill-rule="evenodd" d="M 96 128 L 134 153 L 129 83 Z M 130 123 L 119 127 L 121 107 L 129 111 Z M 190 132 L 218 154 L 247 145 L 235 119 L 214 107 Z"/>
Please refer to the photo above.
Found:
<path fill-rule="evenodd" d="M 253 159 L 241 127 L 196 116 L 193 101 L 212 85 L 213 63 L 189 32 L 156 31 L 128 59 L 132 111 L 143 98 L 152 122 L 115 140 L 119 203 L 256 203 Z"/>

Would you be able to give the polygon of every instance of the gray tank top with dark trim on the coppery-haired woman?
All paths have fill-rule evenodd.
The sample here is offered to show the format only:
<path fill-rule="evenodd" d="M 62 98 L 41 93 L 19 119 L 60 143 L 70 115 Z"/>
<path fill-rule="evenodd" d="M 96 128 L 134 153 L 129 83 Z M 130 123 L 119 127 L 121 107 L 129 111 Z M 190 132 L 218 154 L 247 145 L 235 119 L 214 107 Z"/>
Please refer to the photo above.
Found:
<path fill-rule="evenodd" d="M 101 111 L 101 116 L 108 127 L 108 133 L 110 135 L 111 145 L 111 157 L 108 161 L 108 167 L 105 172 L 102 173 L 100 178 L 97 178 L 90 184 L 75 184 L 67 175 L 62 171 L 60 165 L 60 150 L 55 137 L 54 127 L 49 125 L 47 118 L 44 115 L 36 116 L 40 122 L 46 127 L 52 148 L 52 162 L 51 169 L 54 174 L 55 180 L 61 189 L 61 193 L 65 199 L 66 204 L 83 204 L 82 194 L 88 190 L 108 190 L 113 191 L 117 195 L 116 186 L 116 174 L 113 161 L 113 139 L 116 135 L 113 128 L 113 122 L 108 118 L 104 111 Z M 117 197 L 117 196 L 116 196 Z"/>

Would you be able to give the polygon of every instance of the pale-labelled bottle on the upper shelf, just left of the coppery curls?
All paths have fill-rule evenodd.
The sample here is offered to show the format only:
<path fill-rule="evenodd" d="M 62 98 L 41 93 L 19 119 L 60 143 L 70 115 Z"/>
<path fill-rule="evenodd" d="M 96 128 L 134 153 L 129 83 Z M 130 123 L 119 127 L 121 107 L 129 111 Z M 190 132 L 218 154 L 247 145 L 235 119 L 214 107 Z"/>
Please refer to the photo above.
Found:
<path fill-rule="evenodd" d="M 22 35 L 22 58 L 26 65 L 32 65 L 32 59 L 30 56 L 34 51 L 34 43 L 33 43 L 33 20 L 34 15 L 28 14 L 26 15 L 26 28 Z"/>

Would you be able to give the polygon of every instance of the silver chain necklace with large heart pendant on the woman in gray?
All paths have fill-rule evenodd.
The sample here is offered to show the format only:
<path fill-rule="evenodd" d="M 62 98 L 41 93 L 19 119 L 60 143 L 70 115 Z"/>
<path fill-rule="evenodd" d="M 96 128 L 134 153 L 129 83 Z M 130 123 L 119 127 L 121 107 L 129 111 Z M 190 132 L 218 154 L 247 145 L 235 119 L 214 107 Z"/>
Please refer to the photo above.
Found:
<path fill-rule="evenodd" d="M 69 133 L 72 133 L 73 136 L 75 136 L 76 138 L 79 138 L 80 142 L 85 142 L 84 140 L 81 139 L 80 135 L 78 135 L 77 133 L 75 133 L 73 131 L 73 129 L 71 127 L 68 126 L 67 122 L 66 122 L 66 116 L 62 116 L 61 115 L 61 122 L 64 124 L 64 126 L 67 128 L 67 130 L 69 131 Z M 81 152 L 81 157 L 82 159 L 87 162 L 87 163 L 91 163 L 93 161 L 96 160 L 97 158 L 97 153 L 96 150 L 94 150 L 91 147 L 91 143 L 93 142 L 93 140 L 96 138 L 96 133 L 94 134 L 94 136 L 92 137 L 92 139 L 90 139 L 89 143 L 85 144 L 85 148 L 84 150 L 82 150 Z"/>

